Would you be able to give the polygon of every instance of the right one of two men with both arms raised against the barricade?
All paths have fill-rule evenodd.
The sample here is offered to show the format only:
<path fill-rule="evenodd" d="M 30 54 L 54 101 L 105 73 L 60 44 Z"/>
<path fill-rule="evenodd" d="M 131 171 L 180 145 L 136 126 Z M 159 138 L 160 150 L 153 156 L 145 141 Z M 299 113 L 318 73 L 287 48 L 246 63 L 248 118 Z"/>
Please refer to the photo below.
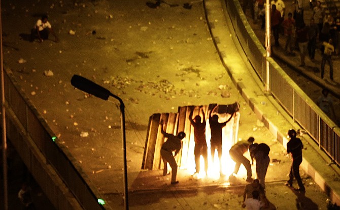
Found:
<path fill-rule="evenodd" d="M 218 159 L 220 161 L 220 174 L 222 174 L 222 128 L 230 121 L 234 113 L 231 113 L 229 119 L 224 123 L 218 122 L 218 115 L 213 114 L 215 109 L 217 108 L 217 104 L 212 108 L 210 114 L 209 114 L 209 125 L 210 125 L 210 131 L 211 131 L 211 139 L 210 139 L 210 149 L 211 149 L 211 158 L 212 162 L 214 162 L 215 157 L 215 149 L 217 149 Z"/>

